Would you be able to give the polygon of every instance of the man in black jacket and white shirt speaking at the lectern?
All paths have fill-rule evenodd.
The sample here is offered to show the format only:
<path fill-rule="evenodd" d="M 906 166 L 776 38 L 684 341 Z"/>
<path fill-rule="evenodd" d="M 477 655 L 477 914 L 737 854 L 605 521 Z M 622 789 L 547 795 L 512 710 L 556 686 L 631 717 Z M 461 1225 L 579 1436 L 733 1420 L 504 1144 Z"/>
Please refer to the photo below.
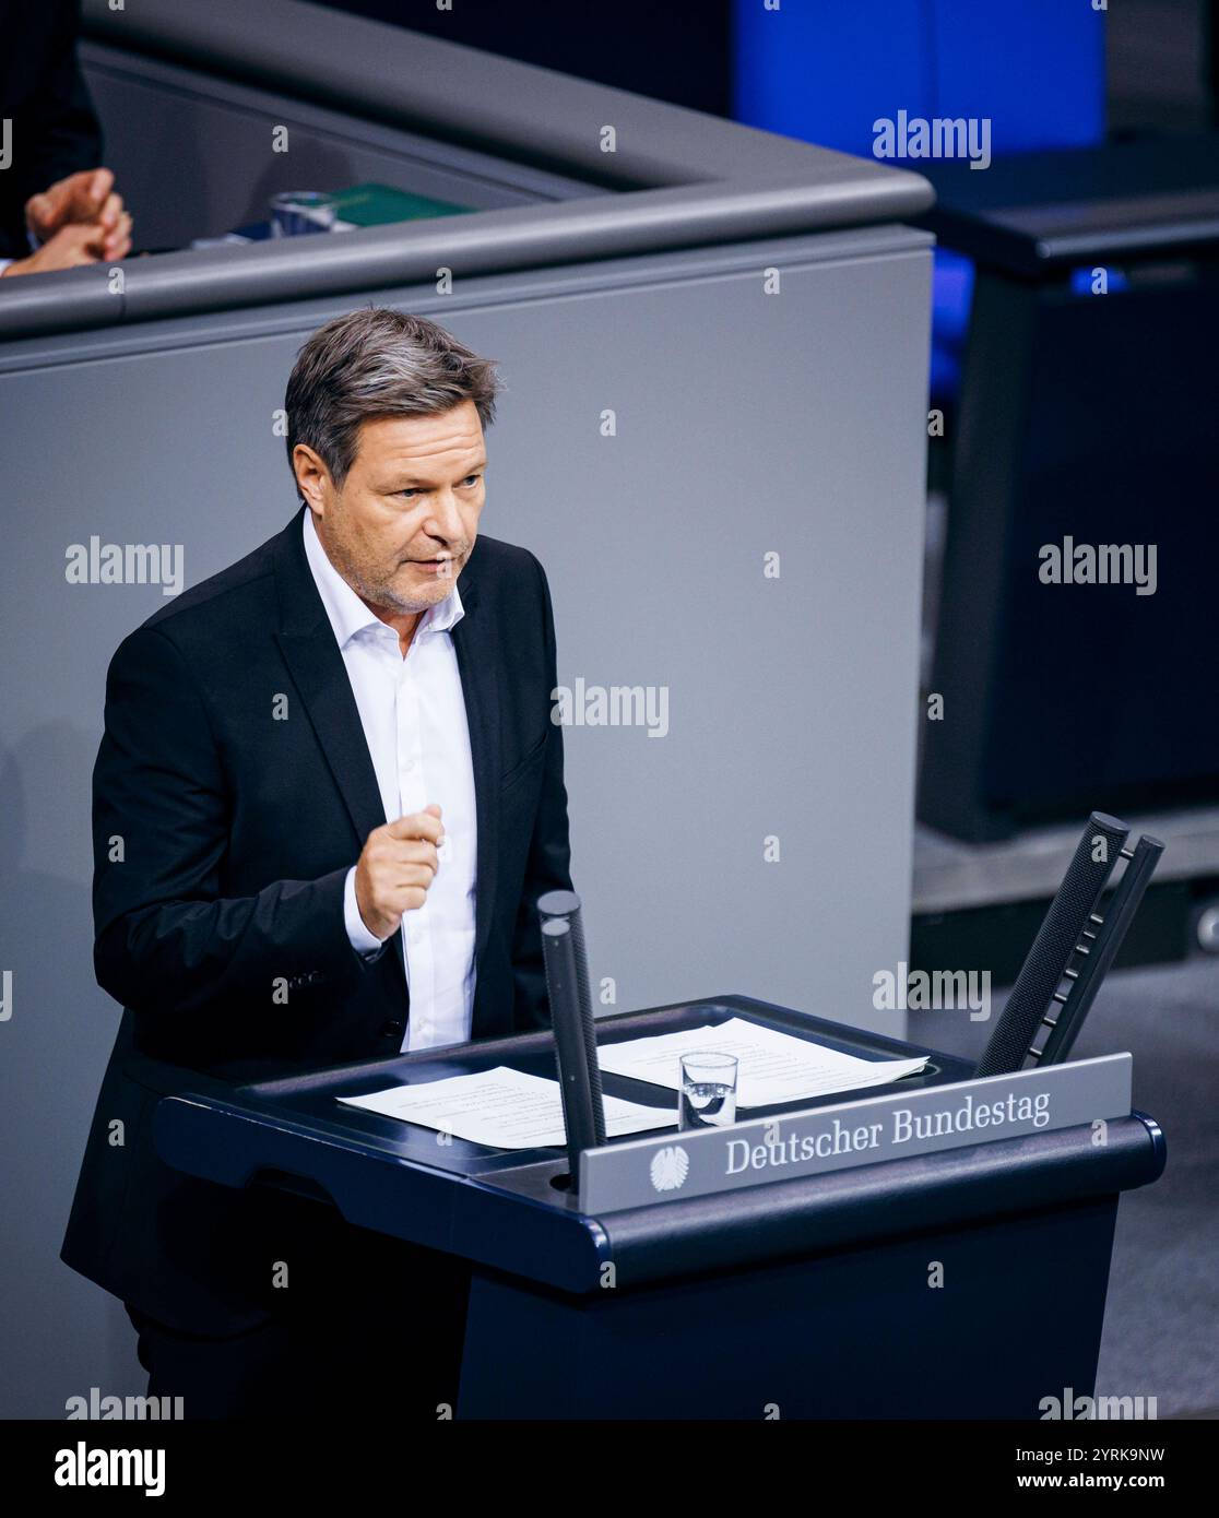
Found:
<path fill-rule="evenodd" d="M 124 1013 L 62 1257 L 188 1418 L 455 1397 L 454 1257 L 173 1172 L 152 1119 L 165 1064 L 244 1082 L 548 1023 L 554 622 L 533 554 L 478 536 L 496 389 L 421 317 L 320 328 L 285 399 L 301 512 L 111 662 L 94 964 Z"/>

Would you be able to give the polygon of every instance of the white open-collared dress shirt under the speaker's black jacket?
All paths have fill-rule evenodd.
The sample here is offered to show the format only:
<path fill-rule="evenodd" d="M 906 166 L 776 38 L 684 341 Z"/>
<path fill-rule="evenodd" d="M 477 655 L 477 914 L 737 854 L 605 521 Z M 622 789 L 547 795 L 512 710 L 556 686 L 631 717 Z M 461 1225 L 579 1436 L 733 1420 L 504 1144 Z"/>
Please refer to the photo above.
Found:
<path fill-rule="evenodd" d="M 466 701 L 451 628 L 465 616 L 452 589 L 419 619 L 405 659 L 398 633 L 375 616 L 326 557 L 305 510 L 305 556 L 334 628 L 355 695 L 387 821 L 440 808 L 445 838 L 427 900 L 402 914 L 410 1019 L 402 1049 L 465 1043 L 474 1011 L 477 820 Z M 380 949 L 355 902 L 355 867 L 345 893 L 348 938 Z"/>

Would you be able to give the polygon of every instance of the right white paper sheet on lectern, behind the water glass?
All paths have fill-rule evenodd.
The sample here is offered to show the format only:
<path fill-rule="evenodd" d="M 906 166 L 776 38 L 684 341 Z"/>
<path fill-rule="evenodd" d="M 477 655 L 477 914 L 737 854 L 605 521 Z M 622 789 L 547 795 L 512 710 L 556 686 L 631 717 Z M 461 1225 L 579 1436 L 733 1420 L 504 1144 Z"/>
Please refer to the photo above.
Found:
<path fill-rule="evenodd" d="M 808 1038 L 762 1028 L 744 1017 L 732 1017 L 718 1026 L 686 1028 L 677 1034 L 653 1034 L 601 1044 L 597 1055 L 603 1070 L 680 1091 L 680 1058 L 700 1049 L 736 1055 L 738 1107 L 770 1107 L 824 1096 L 827 1091 L 888 1085 L 890 1081 L 921 1070 L 928 1063 L 926 1055 L 917 1060 L 858 1060 L 809 1043 Z"/>

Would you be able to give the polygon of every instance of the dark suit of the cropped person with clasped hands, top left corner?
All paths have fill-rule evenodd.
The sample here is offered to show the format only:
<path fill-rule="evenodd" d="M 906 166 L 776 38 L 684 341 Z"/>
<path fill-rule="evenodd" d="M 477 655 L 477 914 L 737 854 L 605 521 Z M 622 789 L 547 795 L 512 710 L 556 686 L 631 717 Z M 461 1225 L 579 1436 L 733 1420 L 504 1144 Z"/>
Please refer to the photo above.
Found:
<path fill-rule="evenodd" d="M 26 200 L 102 164 L 102 129 L 76 62 L 79 0 L 0 0 L 0 117 L 12 164 L 0 172 L 0 258 L 27 258 Z"/>

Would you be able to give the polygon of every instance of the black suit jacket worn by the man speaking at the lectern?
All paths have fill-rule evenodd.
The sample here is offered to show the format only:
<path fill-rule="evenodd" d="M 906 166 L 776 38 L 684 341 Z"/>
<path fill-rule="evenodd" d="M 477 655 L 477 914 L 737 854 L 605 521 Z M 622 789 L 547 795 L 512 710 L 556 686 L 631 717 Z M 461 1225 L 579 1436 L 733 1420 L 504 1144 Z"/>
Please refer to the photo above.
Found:
<path fill-rule="evenodd" d="M 348 868 L 387 818 L 304 510 L 126 638 L 106 680 L 94 965 L 124 1014 L 62 1258 L 188 1333 L 261 1319 L 291 1208 L 164 1166 L 159 1094 L 188 1081 L 184 1067 L 249 1081 L 389 1058 L 407 1026 L 401 934 L 372 959 L 346 937 Z M 472 1035 L 486 1038 L 548 1025 L 536 903 L 571 890 L 568 814 L 542 566 L 480 537 L 458 587 L 478 824 Z"/>

